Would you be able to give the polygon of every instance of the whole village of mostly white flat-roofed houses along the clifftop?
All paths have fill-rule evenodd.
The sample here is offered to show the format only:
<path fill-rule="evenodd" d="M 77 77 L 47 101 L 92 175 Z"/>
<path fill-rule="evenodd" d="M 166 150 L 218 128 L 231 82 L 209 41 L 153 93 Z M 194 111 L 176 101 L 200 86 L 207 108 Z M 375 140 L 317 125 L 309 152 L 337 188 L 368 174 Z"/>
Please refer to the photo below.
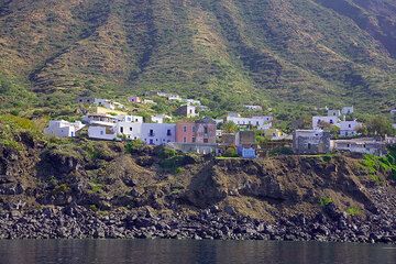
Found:
<path fill-rule="evenodd" d="M 128 103 L 155 106 L 152 97 L 129 97 Z M 154 97 L 177 102 L 179 107 L 173 114 L 156 113 L 147 118 L 131 114 L 129 107 L 117 101 L 78 97 L 76 102 L 85 112 L 81 120 L 52 120 L 44 133 L 58 138 L 140 141 L 147 145 L 166 145 L 184 153 L 242 158 L 266 156 L 271 152 L 296 155 L 349 152 L 382 156 L 389 145 L 396 144 L 396 138 L 392 135 L 365 138 L 361 133 L 364 124 L 353 118 L 353 107 L 326 108 L 324 114 L 311 118 L 310 129 L 295 129 L 286 134 L 276 129 L 271 114 L 242 117 L 238 112 L 229 112 L 223 118 L 213 119 L 202 114 L 209 108 L 199 100 L 166 92 L 156 92 Z M 261 106 L 243 107 L 252 113 L 263 111 Z M 391 111 L 391 117 L 396 129 L 396 109 Z"/>

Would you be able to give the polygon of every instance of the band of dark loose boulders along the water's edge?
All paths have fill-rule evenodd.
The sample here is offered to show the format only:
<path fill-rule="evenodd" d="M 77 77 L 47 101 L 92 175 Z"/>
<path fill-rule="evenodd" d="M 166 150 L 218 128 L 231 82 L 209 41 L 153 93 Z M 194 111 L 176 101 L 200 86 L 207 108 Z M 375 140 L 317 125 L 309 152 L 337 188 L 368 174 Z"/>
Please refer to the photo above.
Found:
<path fill-rule="evenodd" d="M 195 216 L 145 212 L 98 213 L 80 206 L 0 215 L 0 239 L 193 239 L 396 243 L 395 216 L 350 218 L 329 205 L 266 223 L 213 207 Z"/>

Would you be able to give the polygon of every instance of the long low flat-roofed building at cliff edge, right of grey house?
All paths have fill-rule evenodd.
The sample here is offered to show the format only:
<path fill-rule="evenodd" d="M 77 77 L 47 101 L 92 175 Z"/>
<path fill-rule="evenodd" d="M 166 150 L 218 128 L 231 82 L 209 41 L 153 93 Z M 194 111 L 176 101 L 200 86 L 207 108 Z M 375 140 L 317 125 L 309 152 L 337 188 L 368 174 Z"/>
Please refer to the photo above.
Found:
<path fill-rule="evenodd" d="M 332 147 L 336 151 L 383 156 L 387 153 L 386 143 L 375 139 L 334 140 Z"/>

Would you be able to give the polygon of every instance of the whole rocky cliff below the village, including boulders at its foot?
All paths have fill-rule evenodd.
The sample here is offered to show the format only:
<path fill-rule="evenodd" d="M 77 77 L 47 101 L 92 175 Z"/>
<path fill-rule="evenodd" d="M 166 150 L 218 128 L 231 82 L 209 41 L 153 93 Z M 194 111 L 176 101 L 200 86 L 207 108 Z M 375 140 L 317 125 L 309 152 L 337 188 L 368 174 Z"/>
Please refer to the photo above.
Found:
<path fill-rule="evenodd" d="M 359 158 L 130 154 L 123 143 L 29 134 L 20 143 L 0 146 L 2 238 L 396 239 L 395 183 Z"/>

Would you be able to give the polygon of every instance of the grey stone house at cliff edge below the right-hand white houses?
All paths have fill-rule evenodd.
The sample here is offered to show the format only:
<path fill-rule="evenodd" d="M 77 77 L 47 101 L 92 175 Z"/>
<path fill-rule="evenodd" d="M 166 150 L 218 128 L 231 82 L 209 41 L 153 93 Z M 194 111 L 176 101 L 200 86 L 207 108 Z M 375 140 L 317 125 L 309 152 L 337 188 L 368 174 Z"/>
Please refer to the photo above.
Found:
<path fill-rule="evenodd" d="M 330 153 L 330 132 L 323 130 L 296 130 L 293 134 L 295 154 Z"/>

